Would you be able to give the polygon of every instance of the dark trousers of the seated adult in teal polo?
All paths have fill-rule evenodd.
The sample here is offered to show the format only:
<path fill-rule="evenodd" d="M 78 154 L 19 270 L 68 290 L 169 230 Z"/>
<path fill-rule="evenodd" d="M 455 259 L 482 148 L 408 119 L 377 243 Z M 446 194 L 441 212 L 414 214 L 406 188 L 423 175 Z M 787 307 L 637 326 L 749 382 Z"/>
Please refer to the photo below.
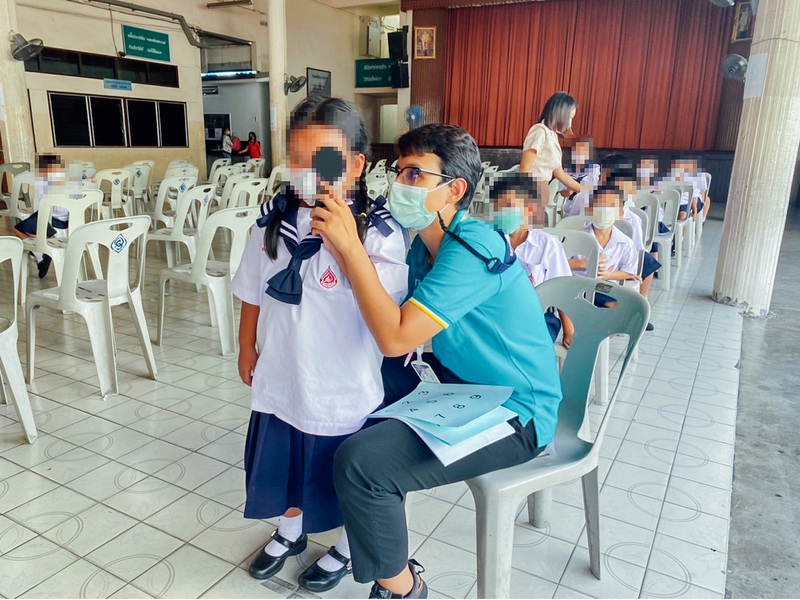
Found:
<path fill-rule="evenodd" d="M 444 382 L 441 365 L 437 368 L 434 364 L 438 361 L 425 358 Z M 402 359 L 386 359 L 383 373 L 387 404 L 405 395 L 396 396 L 403 389 L 410 392 L 419 383 L 410 367 L 402 367 Z M 448 467 L 439 462 L 416 433 L 394 419 L 359 431 L 339 446 L 333 464 L 334 484 L 356 581 L 388 579 L 405 568 L 408 527 L 403 501 L 408 492 L 518 465 L 543 450 L 536 442 L 533 421 L 526 427 L 517 419 L 509 423 L 514 428 L 513 435 Z"/>

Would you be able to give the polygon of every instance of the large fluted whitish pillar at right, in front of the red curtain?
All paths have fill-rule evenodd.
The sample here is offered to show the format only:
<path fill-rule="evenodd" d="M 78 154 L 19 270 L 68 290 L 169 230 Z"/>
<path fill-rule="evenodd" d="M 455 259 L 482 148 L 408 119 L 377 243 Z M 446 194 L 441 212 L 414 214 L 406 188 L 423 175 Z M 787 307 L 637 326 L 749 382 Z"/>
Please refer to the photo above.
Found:
<path fill-rule="evenodd" d="M 766 54 L 759 93 L 758 55 Z M 713 298 L 769 311 L 800 145 L 800 2 L 761 0 Z"/>

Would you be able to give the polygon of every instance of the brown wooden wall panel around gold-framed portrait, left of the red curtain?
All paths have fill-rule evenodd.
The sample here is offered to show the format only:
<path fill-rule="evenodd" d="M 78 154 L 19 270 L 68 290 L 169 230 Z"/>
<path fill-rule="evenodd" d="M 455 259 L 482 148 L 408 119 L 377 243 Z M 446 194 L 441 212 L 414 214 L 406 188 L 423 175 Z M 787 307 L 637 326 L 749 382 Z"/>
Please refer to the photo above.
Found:
<path fill-rule="evenodd" d="M 447 9 L 415 10 L 411 35 L 411 104 L 419 104 L 426 123 L 441 123 L 447 63 Z M 436 27 L 436 58 L 413 59 L 414 27 Z"/>

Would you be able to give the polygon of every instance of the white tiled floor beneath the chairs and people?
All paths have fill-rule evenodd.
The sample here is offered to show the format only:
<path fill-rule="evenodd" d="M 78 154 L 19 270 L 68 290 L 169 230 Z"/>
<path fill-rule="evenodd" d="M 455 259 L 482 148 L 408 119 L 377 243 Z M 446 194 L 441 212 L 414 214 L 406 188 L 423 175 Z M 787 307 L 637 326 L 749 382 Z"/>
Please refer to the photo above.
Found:
<path fill-rule="evenodd" d="M 671 292 L 654 285 L 656 329 L 623 382 L 602 449 L 602 581 L 589 573 L 576 481 L 555 489 L 548 528 L 521 513 L 513 596 L 723 597 L 742 320 L 709 300 L 721 230 L 707 223 Z M 163 251 L 151 249 L 151 330 L 163 266 Z M 52 275 L 44 285 L 55 285 Z M 40 287 L 35 276 L 30 287 Z M 248 389 L 235 358 L 218 354 L 205 294 L 176 285 L 168 299 L 157 382 L 146 376 L 129 314 L 114 309 L 122 394 L 105 401 L 80 318 L 40 312 L 34 445 L 13 408 L 0 405 L 0 596 L 311 597 L 297 575 L 337 532 L 313 536 L 272 581 L 247 575 L 273 525 L 241 516 Z M 602 410 L 592 406 L 593 419 Z M 412 551 L 431 596 L 475 597 L 466 486 L 408 501 Z M 348 578 L 326 595 L 367 593 Z"/>

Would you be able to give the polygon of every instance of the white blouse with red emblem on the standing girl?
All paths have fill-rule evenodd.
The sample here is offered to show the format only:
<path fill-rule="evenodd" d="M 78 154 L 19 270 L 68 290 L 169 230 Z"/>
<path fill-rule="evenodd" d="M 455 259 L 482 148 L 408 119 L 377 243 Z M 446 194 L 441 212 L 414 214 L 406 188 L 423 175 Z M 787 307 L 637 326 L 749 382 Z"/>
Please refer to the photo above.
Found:
<path fill-rule="evenodd" d="M 298 209 L 300 239 L 311 231 L 310 213 L 309 208 Z M 397 223 L 387 222 L 394 233 L 384 237 L 370 227 L 364 248 L 383 287 L 399 304 L 408 289 L 406 243 Z M 286 268 L 290 254 L 280 239 L 278 258 L 271 260 L 263 236 L 263 229 L 253 228 L 231 281 L 238 298 L 261 308 L 250 406 L 313 435 L 358 431 L 383 401 L 383 356 L 361 317 L 350 282 L 322 246 L 300 267 L 300 304 L 275 300 L 265 293 L 267 281 Z"/>

